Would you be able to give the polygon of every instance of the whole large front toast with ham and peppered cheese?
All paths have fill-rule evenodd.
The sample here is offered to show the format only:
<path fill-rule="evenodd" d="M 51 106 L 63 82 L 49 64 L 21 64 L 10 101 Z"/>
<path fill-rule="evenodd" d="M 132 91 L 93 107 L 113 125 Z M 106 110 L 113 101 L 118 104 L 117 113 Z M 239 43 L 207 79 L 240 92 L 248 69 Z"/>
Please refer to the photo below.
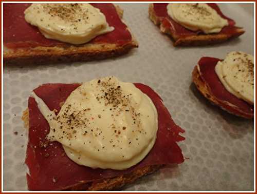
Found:
<path fill-rule="evenodd" d="M 184 160 L 159 95 L 114 76 L 41 85 L 23 120 L 29 190 L 110 190 Z"/>

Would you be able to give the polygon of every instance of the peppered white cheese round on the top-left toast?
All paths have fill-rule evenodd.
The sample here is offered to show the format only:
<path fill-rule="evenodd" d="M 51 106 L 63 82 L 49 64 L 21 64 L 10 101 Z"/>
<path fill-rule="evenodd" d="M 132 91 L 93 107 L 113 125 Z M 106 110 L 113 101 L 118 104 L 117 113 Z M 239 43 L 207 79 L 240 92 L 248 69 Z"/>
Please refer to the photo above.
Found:
<path fill-rule="evenodd" d="M 114 30 L 105 15 L 90 4 L 32 4 L 24 13 L 25 20 L 46 38 L 70 44 L 87 43 Z"/>

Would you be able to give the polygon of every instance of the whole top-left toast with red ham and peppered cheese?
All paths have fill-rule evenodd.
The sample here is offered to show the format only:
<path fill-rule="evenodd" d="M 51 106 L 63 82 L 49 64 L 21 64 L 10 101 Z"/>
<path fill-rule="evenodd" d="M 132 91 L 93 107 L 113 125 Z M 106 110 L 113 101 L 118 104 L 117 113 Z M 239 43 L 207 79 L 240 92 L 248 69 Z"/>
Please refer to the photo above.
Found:
<path fill-rule="evenodd" d="M 4 64 L 105 59 L 137 41 L 113 4 L 3 4 Z"/>

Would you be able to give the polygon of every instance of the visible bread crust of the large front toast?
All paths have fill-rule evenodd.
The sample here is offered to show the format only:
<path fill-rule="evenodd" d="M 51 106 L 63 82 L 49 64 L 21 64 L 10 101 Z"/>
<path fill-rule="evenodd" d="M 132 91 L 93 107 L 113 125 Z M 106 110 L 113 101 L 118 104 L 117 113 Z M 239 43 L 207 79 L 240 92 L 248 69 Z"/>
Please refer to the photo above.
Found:
<path fill-rule="evenodd" d="M 29 129 L 29 110 L 28 108 L 23 111 L 22 120 L 24 126 Z M 121 176 L 102 179 L 91 182 L 80 182 L 74 186 L 64 188 L 64 190 L 113 190 L 118 189 L 126 184 L 134 182 L 136 179 L 150 174 L 158 170 L 162 165 L 151 165 L 136 169 L 130 173 L 122 174 Z"/>

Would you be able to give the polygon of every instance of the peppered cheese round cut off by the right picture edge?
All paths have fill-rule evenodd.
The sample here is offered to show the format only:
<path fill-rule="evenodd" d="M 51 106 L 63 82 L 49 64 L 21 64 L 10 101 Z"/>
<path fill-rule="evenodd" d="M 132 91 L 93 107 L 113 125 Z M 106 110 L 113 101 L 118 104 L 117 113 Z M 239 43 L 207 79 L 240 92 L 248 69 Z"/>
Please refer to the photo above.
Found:
<path fill-rule="evenodd" d="M 224 87 L 237 98 L 254 103 L 253 56 L 244 52 L 230 52 L 219 61 L 215 71 Z"/>

